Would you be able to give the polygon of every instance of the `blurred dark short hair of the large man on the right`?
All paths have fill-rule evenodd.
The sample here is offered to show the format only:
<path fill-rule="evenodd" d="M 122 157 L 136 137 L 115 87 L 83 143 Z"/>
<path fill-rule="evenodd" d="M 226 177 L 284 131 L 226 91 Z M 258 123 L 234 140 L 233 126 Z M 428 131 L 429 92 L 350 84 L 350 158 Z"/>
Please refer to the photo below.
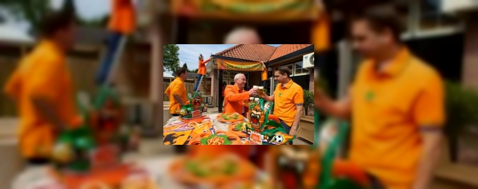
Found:
<path fill-rule="evenodd" d="M 397 10 L 392 6 L 374 6 L 362 12 L 354 14 L 351 23 L 355 21 L 367 21 L 370 28 L 377 33 L 390 30 L 394 39 L 400 42 L 400 34 L 403 31 L 402 20 Z"/>

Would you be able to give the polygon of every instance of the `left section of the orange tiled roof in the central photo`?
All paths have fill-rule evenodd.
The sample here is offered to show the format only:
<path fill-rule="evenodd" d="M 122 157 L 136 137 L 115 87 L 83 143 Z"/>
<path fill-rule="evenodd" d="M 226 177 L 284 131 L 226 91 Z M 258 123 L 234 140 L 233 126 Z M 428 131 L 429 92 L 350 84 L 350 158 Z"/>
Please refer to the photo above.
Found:
<path fill-rule="evenodd" d="M 267 62 L 275 48 L 270 45 L 234 45 L 216 55 Z"/>

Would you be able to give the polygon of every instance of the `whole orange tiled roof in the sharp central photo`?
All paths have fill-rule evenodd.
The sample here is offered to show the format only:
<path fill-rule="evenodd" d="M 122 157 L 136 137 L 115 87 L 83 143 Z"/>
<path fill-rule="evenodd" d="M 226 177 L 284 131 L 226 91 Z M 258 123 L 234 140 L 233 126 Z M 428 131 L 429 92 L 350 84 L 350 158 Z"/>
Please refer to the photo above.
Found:
<path fill-rule="evenodd" d="M 278 47 L 270 45 L 234 45 L 216 55 L 255 61 L 271 61 L 309 47 L 311 44 L 283 44 Z"/>

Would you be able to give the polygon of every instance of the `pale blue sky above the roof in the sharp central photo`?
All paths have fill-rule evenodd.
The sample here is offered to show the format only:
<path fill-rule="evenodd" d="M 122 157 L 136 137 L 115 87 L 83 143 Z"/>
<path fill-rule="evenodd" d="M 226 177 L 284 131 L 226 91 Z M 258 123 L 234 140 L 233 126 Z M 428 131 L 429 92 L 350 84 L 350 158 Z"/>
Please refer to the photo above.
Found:
<path fill-rule="evenodd" d="M 270 44 L 272 46 L 279 46 L 280 44 Z M 187 69 L 194 70 L 198 69 L 198 57 L 199 54 L 202 53 L 204 59 L 209 58 L 211 54 L 216 54 L 223 50 L 226 50 L 229 47 L 234 45 L 177 45 L 179 47 L 179 62 L 180 65 L 186 63 Z M 166 71 L 167 73 L 171 73 L 172 71 Z"/>

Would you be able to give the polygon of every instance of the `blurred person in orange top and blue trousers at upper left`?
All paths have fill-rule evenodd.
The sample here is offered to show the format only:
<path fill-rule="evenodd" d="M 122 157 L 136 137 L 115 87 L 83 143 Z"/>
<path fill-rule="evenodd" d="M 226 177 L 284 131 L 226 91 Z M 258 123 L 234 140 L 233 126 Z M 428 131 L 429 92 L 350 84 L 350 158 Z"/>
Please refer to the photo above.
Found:
<path fill-rule="evenodd" d="M 118 48 L 126 43 L 126 38 L 134 32 L 135 14 L 133 0 L 111 0 L 108 48 L 96 76 L 97 83 L 104 83 L 108 79 Z"/>

